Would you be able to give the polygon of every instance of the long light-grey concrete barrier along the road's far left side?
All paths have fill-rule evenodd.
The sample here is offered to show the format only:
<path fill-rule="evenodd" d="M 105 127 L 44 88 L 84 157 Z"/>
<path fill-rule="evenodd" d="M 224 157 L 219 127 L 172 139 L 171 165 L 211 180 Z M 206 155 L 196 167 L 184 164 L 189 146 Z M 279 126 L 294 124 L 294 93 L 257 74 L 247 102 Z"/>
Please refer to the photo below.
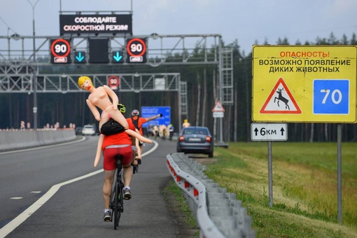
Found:
<path fill-rule="evenodd" d="M 44 146 L 76 139 L 73 129 L 1 130 L 0 151 Z"/>

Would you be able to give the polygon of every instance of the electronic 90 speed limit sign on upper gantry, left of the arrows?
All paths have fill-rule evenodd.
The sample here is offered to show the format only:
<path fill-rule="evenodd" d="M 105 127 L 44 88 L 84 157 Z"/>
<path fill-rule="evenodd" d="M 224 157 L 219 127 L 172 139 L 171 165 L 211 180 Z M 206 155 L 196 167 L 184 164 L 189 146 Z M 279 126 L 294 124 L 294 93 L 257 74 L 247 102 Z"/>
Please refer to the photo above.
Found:
<path fill-rule="evenodd" d="M 71 45 L 69 41 L 63 38 L 52 40 L 50 50 L 52 63 L 63 64 L 70 62 L 69 53 L 71 52 Z"/>

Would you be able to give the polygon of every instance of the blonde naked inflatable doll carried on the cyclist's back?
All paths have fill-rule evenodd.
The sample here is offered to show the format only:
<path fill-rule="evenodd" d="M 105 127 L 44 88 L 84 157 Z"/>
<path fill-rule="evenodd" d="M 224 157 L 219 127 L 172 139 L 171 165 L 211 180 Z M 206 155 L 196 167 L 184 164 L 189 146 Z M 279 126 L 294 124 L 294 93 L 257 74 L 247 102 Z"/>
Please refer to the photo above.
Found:
<path fill-rule="evenodd" d="M 110 118 L 113 118 L 113 120 L 116 120 L 124 127 L 127 134 L 130 134 L 141 141 L 145 141 L 146 143 L 152 143 L 150 139 L 141 136 L 141 134 L 134 132 L 133 130 L 128 130 L 127 120 L 123 114 L 118 111 L 118 96 L 113 90 L 111 90 L 110 87 L 107 85 L 94 87 L 92 80 L 88 76 L 79 77 L 78 85 L 83 90 L 90 92 L 86 102 L 95 120 L 99 121 L 99 131 L 104 123 L 106 123 Z M 100 115 L 97 107 L 102 110 L 102 116 Z"/>

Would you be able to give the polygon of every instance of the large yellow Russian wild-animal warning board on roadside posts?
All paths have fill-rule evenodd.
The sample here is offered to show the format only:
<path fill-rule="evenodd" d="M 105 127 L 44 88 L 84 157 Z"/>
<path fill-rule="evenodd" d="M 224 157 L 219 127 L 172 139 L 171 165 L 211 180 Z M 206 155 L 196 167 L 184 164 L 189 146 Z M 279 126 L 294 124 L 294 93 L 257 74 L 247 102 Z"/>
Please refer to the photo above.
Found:
<path fill-rule="evenodd" d="M 252 120 L 356 123 L 357 47 L 253 45 Z"/>

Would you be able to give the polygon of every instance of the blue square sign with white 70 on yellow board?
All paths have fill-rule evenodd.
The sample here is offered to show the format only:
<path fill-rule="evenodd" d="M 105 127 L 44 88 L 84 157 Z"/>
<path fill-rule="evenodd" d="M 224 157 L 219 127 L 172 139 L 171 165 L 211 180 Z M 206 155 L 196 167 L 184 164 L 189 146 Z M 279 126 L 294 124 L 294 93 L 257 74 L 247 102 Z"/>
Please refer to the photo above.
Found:
<path fill-rule="evenodd" d="M 314 79 L 314 114 L 349 114 L 349 80 Z"/>

